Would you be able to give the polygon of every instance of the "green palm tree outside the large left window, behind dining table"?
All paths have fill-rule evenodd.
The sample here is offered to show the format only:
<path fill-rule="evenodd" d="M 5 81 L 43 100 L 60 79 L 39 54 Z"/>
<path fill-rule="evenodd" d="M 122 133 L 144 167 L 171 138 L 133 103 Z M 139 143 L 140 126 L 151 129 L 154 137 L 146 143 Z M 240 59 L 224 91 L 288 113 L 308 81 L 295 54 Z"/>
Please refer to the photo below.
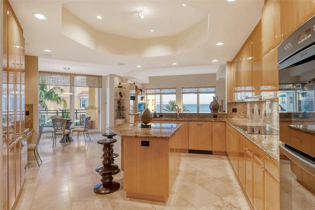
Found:
<path fill-rule="evenodd" d="M 62 104 L 63 109 L 67 108 L 67 102 L 64 100 L 64 98 L 59 97 L 58 93 L 63 92 L 63 89 L 55 86 L 48 90 L 48 87 L 46 85 L 39 85 L 39 109 L 40 110 L 48 110 L 48 106 L 46 104 L 46 101 L 55 102 L 57 104 Z"/>

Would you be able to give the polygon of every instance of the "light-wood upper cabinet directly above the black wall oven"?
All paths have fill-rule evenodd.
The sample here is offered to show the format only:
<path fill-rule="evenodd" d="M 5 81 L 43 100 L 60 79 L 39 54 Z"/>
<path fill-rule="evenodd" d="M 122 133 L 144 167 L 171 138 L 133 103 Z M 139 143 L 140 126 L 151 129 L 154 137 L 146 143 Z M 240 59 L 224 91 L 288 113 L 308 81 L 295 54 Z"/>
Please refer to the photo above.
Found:
<path fill-rule="evenodd" d="M 314 0 L 281 1 L 281 33 L 283 40 L 315 15 Z"/>

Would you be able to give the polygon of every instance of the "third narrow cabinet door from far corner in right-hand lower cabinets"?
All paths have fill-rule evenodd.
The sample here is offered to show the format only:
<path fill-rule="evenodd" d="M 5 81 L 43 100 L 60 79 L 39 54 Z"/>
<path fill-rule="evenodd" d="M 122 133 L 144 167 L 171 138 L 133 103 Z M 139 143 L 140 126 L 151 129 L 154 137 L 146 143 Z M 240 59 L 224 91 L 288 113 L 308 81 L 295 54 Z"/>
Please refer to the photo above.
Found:
<path fill-rule="evenodd" d="M 244 189 L 246 189 L 246 138 L 239 133 L 240 138 L 240 148 L 238 153 L 238 177 L 241 180 Z"/>

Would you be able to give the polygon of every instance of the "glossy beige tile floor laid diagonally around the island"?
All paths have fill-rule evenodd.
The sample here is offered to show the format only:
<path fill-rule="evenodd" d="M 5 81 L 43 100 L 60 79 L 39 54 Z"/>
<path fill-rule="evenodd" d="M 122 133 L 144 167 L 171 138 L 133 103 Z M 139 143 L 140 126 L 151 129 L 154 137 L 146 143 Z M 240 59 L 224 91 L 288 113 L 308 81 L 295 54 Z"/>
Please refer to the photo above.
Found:
<path fill-rule="evenodd" d="M 76 139 L 75 136 L 74 140 Z M 108 195 L 93 192 L 100 176 L 102 146 L 96 141 L 72 142 L 52 148 L 50 137 L 39 146 L 43 163 L 29 161 L 26 181 L 16 210 L 251 210 L 226 156 L 182 153 L 182 163 L 166 204 L 126 198 L 124 172 L 114 175 L 118 191 Z M 120 153 L 120 137 L 114 151 Z M 120 156 L 115 163 L 120 165 Z"/>

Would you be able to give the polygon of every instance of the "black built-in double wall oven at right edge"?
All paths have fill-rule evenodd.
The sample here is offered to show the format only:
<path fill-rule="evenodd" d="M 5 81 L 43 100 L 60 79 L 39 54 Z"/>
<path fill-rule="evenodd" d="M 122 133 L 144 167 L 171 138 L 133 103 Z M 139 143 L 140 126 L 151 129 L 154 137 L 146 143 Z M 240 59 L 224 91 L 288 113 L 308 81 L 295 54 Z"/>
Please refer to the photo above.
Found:
<path fill-rule="evenodd" d="M 278 47 L 282 210 L 315 209 L 315 16 Z"/>

